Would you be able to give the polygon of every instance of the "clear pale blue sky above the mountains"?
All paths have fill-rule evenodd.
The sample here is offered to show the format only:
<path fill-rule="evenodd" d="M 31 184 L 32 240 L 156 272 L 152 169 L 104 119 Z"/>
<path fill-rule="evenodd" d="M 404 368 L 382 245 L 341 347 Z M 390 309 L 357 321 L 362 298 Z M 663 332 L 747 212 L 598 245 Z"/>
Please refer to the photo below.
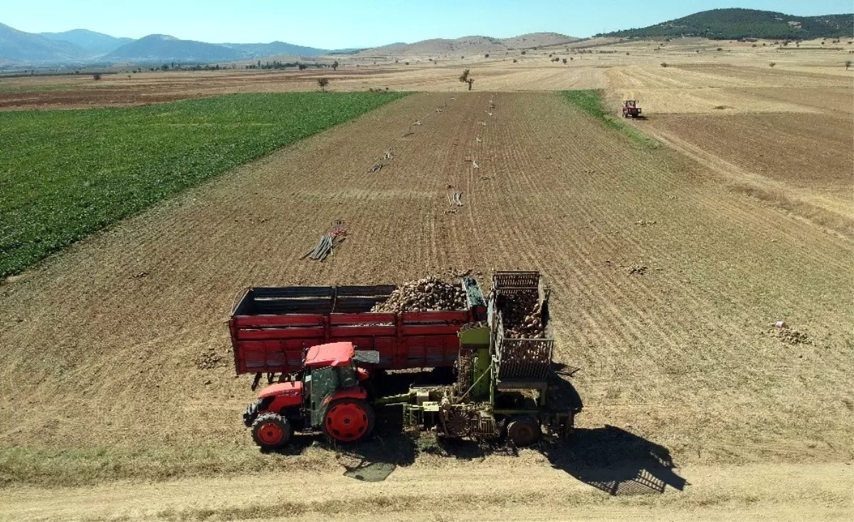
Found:
<path fill-rule="evenodd" d="M 161 33 L 343 49 L 541 31 L 587 37 L 726 7 L 806 16 L 851 13 L 854 0 L 0 0 L 0 23 L 26 32 L 83 28 L 130 38 Z"/>

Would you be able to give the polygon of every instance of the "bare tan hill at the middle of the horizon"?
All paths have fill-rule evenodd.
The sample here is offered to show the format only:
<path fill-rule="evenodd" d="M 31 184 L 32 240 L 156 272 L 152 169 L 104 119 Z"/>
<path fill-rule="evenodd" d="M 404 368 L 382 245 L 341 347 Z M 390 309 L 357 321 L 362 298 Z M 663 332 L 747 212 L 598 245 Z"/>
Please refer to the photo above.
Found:
<path fill-rule="evenodd" d="M 361 55 L 448 55 L 478 54 L 506 51 L 509 49 L 529 49 L 555 44 L 575 42 L 572 38 L 556 32 L 533 32 L 513 38 L 490 38 L 468 36 L 462 38 L 432 38 L 414 44 L 390 44 L 373 49 L 365 49 Z"/>

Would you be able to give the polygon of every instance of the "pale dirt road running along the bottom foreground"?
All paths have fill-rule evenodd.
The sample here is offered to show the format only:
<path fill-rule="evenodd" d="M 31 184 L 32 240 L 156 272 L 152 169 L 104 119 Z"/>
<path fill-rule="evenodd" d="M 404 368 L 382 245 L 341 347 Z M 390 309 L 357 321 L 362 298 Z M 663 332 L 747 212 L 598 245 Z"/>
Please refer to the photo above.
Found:
<path fill-rule="evenodd" d="M 336 473 L 268 473 L 161 484 L 3 491 L 0 519 L 39 520 L 850 520 L 854 467 L 686 467 L 664 477 L 664 494 L 628 477 L 611 496 L 547 462 L 492 461 L 399 468 L 382 482 Z"/>

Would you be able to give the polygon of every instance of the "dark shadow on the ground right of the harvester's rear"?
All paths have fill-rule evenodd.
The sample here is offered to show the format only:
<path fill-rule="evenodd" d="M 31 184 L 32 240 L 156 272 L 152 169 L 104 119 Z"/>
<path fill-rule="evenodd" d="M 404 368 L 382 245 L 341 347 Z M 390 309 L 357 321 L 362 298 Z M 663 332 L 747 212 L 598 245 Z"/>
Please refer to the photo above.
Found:
<path fill-rule="evenodd" d="M 543 442 L 541 452 L 552 467 L 611 496 L 661 494 L 688 484 L 674 468 L 667 450 L 617 426 L 576 429 L 568 444 Z"/>

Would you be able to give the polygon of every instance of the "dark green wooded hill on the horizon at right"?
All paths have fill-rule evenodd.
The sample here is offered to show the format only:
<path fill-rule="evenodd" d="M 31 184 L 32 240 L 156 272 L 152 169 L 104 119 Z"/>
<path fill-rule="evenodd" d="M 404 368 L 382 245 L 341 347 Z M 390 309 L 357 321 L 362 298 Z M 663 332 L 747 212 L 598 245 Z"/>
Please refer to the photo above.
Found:
<path fill-rule="evenodd" d="M 717 40 L 738 38 L 833 38 L 854 35 L 854 14 L 793 16 L 755 9 L 712 9 L 640 29 L 597 36 L 617 38 L 672 38 L 682 36 Z"/>

